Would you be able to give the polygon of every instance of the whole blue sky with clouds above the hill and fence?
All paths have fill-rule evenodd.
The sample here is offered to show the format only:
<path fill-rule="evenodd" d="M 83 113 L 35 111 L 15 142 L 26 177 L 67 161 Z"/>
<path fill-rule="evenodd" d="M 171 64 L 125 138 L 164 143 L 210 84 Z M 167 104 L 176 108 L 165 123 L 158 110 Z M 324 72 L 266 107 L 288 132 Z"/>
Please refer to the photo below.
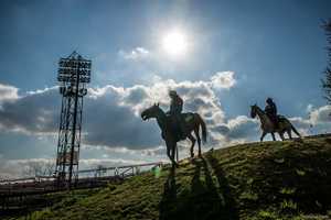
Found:
<path fill-rule="evenodd" d="M 207 122 L 204 151 L 257 141 L 249 106 L 267 97 L 302 134 L 330 132 L 321 89 L 330 9 L 328 0 L 2 0 L 0 178 L 54 160 L 57 62 L 73 51 L 93 62 L 81 167 L 167 161 L 157 123 L 140 112 L 167 110 L 169 89 Z M 185 44 L 178 53 L 164 47 L 174 32 Z"/>

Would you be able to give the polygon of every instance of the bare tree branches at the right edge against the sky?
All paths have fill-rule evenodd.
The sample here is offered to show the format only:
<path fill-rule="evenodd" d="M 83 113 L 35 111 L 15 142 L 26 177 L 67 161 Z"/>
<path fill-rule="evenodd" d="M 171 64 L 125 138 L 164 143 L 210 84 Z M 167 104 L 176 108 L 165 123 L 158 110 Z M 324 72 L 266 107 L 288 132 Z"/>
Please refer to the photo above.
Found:
<path fill-rule="evenodd" d="M 328 40 L 328 67 L 324 72 L 325 76 L 322 79 L 324 97 L 329 103 L 331 103 L 331 19 L 329 21 L 324 21 L 322 28 L 325 30 L 327 40 Z"/>

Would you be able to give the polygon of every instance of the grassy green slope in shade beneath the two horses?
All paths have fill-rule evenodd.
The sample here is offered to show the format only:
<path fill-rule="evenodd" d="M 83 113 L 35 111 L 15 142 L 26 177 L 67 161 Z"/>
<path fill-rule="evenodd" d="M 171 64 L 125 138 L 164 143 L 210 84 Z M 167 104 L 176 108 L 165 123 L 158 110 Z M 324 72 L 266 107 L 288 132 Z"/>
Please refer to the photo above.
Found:
<path fill-rule="evenodd" d="M 34 219 L 316 219 L 331 210 L 331 138 L 250 143 L 147 173 Z M 330 212 L 329 212 L 330 213 Z M 306 217 L 305 217 L 306 216 Z"/>

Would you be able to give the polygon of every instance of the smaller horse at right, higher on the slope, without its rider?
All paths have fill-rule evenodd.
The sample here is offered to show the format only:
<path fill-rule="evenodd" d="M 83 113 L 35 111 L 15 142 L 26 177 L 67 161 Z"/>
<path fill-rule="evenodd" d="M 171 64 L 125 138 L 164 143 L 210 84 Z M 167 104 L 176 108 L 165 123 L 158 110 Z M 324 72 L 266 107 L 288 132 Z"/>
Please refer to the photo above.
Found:
<path fill-rule="evenodd" d="M 292 139 L 291 131 L 293 131 L 299 138 L 301 138 L 301 135 L 296 130 L 296 128 L 291 124 L 291 122 L 282 116 L 278 116 L 278 121 L 279 121 L 278 128 L 275 128 L 275 124 L 269 119 L 267 113 L 264 110 L 261 110 L 257 105 L 250 106 L 250 117 L 256 118 L 256 116 L 258 116 L 258 118 L 260 120 L 260 128 L 263 130 L 263 134 L 259 139 L 260 141 L 263 141 L 265 135 L 268 133 L 271 133 L 273 140 L 276 141 L 276 138 L 274 134 L 275 132 L 277 132 L 279 134 L 279 136 L 282 141 L 285 140 L 285 138 L 284 138 L 285 132 L 287 132 L 289 139 Z"/>

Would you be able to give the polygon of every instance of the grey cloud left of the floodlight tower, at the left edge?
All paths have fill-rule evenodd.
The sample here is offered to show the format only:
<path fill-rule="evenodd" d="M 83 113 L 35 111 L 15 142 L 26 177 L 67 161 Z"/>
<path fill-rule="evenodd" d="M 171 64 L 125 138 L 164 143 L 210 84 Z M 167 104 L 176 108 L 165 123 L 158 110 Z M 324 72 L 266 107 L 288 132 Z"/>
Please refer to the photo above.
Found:
<path fill-rule="evenodd" d="M 0 130 L 24 133 L 55 132 L 58 127 L 58 112 L 55 110 L 61 103 L 57 94 L 57 88 L 52 87 L 3 100 L 0 109 Z"/>

